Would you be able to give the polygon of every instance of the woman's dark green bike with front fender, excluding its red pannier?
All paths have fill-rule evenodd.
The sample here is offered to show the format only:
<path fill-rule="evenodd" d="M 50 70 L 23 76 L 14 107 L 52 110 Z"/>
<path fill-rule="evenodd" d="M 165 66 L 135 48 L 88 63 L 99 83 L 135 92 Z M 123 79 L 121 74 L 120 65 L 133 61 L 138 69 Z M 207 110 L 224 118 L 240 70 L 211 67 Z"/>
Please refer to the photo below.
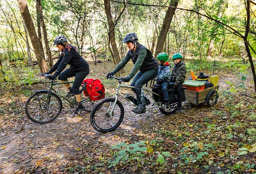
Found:
<path fill-rule="evenodd" d="M 41 77 L 44 77 L 44 79 L 47 80 L 49 80 L 48 76 L 49 74 L 41 74 Z M 35 93 L 29 97 L 25 105 L 27 117 L 36 123 L 49 123 L 52 120 L 55 120 L 62 110 L 61 98 L 70 103 L 71 108 L 76 108 L 78 104 L 75 95 L 64 96 L 61 94 L 61 91 L 53 88 L 53 86 L 58 86 L 65 83 L 74 82 L 56 83 L 54 80 L 49 80 L 48 89 L 33 90 Z M 86 85 L 84 84 L 81 85 L 80 94 L 83 91 L 87 91 Z M 90 112 L 93 108 L 94 102 L 90 99 L 90 97 L 85 97 L 85 95 L 81 95 L 81 97 L 81 103 L 86 103 L 84 104 L 85 111 Z"/>

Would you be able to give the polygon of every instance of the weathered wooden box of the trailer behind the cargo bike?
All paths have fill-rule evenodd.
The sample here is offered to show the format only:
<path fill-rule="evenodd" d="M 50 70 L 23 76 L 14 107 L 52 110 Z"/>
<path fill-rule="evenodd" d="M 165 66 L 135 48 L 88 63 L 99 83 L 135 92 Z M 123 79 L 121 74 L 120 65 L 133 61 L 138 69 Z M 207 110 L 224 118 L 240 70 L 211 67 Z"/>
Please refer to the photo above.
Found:
<path fill-rule="evenodd" d="M 186 89 L 186 90 L 184 90 L 186 101 L 190 102 L 194 105 L 198 105 L 199 103 L 205 103 L 206 98 L 207 98 L 207 94 L 212 89 L 217 91 L 218 86 L 213 86 L 211 88 L 206 88 L 206 89 L 201 90 L 201 91 L 192 91 L 192 90 Z"/>

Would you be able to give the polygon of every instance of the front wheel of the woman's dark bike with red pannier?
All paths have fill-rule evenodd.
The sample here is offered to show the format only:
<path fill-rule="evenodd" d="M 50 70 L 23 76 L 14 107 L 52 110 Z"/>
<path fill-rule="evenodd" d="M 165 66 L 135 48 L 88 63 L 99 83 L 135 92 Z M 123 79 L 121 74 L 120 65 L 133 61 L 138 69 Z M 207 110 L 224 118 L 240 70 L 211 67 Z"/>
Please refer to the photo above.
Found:
<path fill-rule="evenodd" d="M 36 123 L 49 123 L 61 113 L 62 102 L 58 95 L 39 91 L 29 97 L 25 105 L 26 115 Z"/>

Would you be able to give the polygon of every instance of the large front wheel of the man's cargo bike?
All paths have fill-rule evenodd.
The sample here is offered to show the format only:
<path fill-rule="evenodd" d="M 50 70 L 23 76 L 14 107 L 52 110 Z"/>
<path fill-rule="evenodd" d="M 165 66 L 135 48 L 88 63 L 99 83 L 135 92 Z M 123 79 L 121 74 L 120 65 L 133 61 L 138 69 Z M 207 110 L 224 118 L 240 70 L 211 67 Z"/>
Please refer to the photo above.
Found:
<path fill-rule="evenodd" d="M 122 123 L 124 118 L 124 107 L 117 100 L 114 106 L 115 98 L 105 98 L 100 100 L 93 107 L 90 114 L 90 123 L 96 131 L 107 133 L 114 131 Z M 113 108 L 113 113 L 111 110 Z"/>

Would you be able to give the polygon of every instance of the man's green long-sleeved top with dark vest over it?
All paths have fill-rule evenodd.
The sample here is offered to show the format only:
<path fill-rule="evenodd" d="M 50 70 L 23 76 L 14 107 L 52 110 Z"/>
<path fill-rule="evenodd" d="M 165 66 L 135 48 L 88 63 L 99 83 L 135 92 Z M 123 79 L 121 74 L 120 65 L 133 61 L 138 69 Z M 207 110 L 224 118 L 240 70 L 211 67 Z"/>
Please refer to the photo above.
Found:
<path fill-rule="evenodd" d="M 140 70 L 142 73 L 150 69 L 158 69 L 157 60 L 152 56 L 151 52 L 140 43 L 137 43 L 135 53 L 129 50 L 126 56 L 118 63 L 116 68 L 112 71 L 116 74 L 120 69 L 122 69 L 129 60 L 132 60 L 134 66 L 131 70 L 131 73 L 127 77 L 134 77 L 134 75 Z"/>

